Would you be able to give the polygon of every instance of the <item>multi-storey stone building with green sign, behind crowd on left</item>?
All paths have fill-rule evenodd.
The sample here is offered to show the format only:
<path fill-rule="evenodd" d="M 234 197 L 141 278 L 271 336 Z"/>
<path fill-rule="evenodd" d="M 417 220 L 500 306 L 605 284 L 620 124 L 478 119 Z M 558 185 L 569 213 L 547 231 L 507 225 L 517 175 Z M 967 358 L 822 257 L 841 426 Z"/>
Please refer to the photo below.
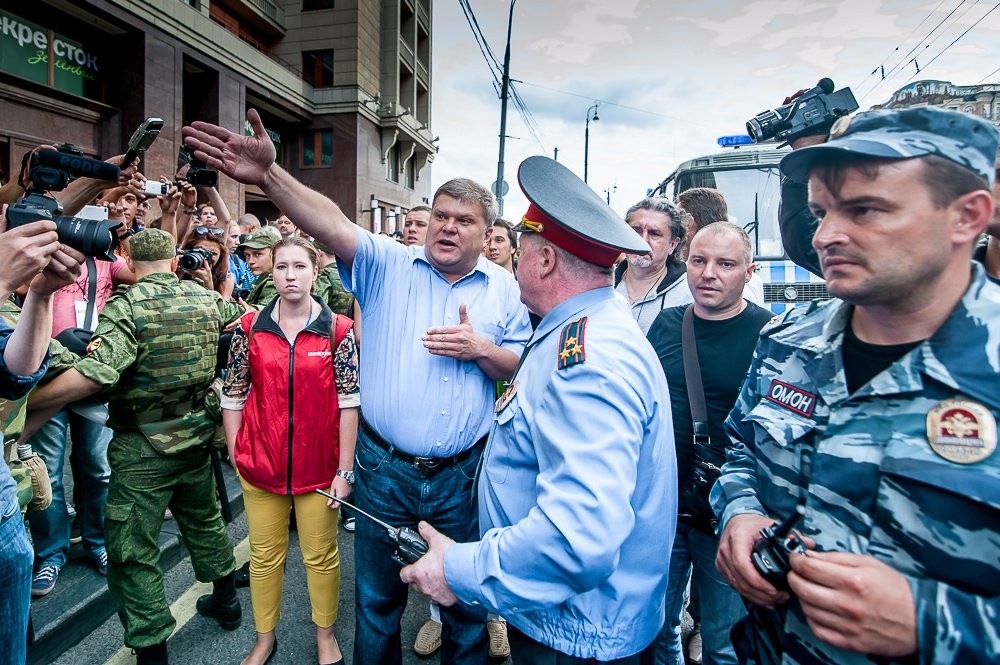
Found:
<path fill-rule="evenodd" d="M 10 7 L 10 9 L 8 9 Z M 249 132 L 257 109 L 296 178 L 392 231 L 431 194 L 430 0 L 38 0 L 0 9 L 0 169 L 41 143 L 122 153 L 163 119 L 148 178 L 172 178 L 181 127 Z M 277 211 L 226 178 L 234 216 Z"/>

